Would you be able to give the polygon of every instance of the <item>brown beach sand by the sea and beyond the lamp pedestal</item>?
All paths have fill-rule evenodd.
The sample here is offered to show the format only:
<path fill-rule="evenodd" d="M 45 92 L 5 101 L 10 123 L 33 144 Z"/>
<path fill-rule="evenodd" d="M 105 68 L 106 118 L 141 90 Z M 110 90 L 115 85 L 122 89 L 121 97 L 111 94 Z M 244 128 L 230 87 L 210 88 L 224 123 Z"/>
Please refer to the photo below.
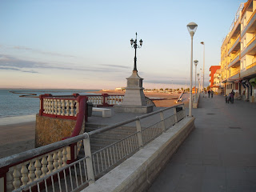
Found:
<path fill-rule="evenodd" d="M 98 91 L 95 94 L 125 94 L 122 91 Z M 146 92 L 148 98 L 164 98 L 154 100 L 156 106 L 168 107 L 176 105 L 180 94 Z M 182 103 L 182 102 L 178 102 Z M 187 103 L 185 103 L 187 106 Z M 0 126 L 0 158 L 34 149 L 35 122 L 21 122 Z"/>

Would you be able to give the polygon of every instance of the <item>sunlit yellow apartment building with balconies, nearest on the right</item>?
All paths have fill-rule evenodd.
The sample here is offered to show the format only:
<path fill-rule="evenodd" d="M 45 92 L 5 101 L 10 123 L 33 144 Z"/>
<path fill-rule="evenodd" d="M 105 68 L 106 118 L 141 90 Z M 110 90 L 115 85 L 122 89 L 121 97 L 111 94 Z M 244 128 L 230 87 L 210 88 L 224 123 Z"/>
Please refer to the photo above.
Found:
<path fill-rule="evenodd" d="M 241 3 L 222 42 L 221 79 L 224 94 L 256 102 L 256 0 Z"/>

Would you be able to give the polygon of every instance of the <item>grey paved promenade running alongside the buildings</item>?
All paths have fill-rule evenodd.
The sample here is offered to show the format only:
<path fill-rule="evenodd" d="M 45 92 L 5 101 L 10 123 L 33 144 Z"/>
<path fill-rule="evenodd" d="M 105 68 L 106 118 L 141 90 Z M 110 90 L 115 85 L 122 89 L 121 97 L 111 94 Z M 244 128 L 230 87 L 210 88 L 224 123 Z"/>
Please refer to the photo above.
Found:
<path fill-rule="evenodd" d="M 200 98 L 195 130 L 149 192 L 256 191 L 256 104 L 224 100 Z"/>

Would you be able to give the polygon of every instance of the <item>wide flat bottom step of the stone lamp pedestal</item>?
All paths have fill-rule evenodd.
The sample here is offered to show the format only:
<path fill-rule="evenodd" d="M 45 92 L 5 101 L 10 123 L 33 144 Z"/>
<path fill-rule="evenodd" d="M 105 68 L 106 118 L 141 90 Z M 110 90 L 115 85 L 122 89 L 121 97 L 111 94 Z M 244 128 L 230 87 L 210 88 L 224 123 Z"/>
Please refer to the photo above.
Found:
<path fill-rule="evenodd" d="M 153 106 L 114 106 L 114 112 L 132 113 L 132 114 L 148 114 L 153 112 Z"/>

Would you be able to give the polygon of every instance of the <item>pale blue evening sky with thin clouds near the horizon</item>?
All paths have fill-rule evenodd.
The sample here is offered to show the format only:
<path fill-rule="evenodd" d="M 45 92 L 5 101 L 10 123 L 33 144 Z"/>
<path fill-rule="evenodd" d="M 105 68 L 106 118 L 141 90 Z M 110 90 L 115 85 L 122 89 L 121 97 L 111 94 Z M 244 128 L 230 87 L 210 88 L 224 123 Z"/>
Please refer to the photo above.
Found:
<path fill-rule="evenodd" d="M 241 0 L 1 0 L 0 88 L 125 87 L 137 49 L 143 87 L 190 86 L 189 22 L 196 22 L 193 60 L 205 86 Z M 194 81 L 194 66 L 193 66 Z M 202 82 L 202 77 L 201 77 Z M 193 82 L 194 83 L 194 82 Z"/>

